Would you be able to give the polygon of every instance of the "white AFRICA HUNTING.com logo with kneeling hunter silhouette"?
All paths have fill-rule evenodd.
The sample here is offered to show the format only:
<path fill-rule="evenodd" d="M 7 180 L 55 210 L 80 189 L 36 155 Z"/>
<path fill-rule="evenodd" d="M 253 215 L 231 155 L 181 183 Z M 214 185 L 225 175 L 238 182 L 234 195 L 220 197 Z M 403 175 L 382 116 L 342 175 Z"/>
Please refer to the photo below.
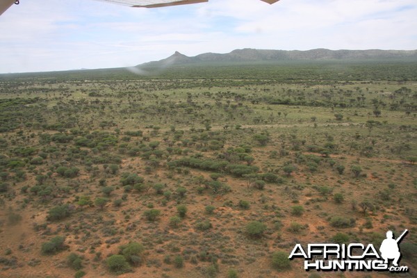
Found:
<path fill-rule="evenodd" d="M 336 244 L 336 243 L 313 243 L 304 250 L 299 243 L 295 245 L 288 259 L 304 258 L 304 270 L 321 271 L 389 271 L 408 272 L 407 265 L 398 265 L 401 259 L 398 245 L 408 233 L 406 229 L 397 239 L 393 232 L 386 232 L 379 247 L 375 250 L 373 244 L 362 243 Z M 390 261 L 392 265 L 390 266 Z"/>

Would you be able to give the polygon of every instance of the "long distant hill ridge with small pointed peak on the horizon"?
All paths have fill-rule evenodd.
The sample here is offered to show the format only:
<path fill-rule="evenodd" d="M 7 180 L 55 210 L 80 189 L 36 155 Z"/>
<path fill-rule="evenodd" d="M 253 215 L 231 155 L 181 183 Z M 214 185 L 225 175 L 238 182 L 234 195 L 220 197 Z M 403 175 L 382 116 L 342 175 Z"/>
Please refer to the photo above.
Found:
<path fill-rule="evenodd" d="M 172 56 L 163 60 L 144 63 L 136 67 L 170 67 L 192 63 L 216 62 L 263 62 L 295 60 L 414 60 L 417 61 L 417 50 L 268 50 L 236 49 L 227 54 L 205 53 L 189 57 L 175 51 Z"/>

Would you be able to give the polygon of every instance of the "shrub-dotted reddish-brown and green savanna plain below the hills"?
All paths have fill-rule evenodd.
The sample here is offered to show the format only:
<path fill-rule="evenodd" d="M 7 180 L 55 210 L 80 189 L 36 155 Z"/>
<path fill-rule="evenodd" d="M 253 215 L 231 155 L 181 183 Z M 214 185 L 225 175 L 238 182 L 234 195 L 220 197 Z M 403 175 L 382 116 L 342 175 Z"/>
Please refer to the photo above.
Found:
<path fill-rule="evenodd" d="M 1 75 L 0 276 L 298 277 L 295 243 L 379 246 L 388 229 L 409 229 L 415 269 L 416 73 Z"/>

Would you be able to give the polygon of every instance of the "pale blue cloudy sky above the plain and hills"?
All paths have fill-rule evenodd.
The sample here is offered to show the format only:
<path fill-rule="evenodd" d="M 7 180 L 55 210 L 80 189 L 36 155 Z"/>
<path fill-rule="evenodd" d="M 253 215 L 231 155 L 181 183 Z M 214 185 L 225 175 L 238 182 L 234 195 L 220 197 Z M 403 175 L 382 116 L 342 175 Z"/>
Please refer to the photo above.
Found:
<path fill-rule="evenodd" d="M 210 0 L 130 8 L 20 0 L 0 16 L 0 73 L 130 67 L 179 51 L 417 49 L 416 0 Z"/>

